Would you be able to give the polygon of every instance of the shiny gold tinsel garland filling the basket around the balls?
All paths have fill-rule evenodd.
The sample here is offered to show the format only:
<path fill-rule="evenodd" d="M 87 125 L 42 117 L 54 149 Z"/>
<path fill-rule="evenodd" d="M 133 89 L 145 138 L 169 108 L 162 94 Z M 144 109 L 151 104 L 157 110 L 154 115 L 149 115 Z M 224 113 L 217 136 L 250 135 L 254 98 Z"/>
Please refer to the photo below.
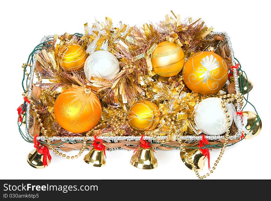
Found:
<path fill-rule="evenodd" d="M 214 48 L 217 44 L 210 43 L 205 37 L 212 31 L 200 19 L 192 22 L 180 22 L 180 16 L 172 13 L 174 18 L 166 16 L 165 21 L 144 24 L 142 27 L 129 27 L 119 22 L 113 27 L 112 19 L 106 17 L 105 23 L 95 21 L 90 27 L 85 24 L 85 34 L 79 38 L 67 33 L 55 35 L 52 48 L 41 50 L 36 57 L 36 69 L 41 77 L 36 83 L 42 90 L 36 109 L 43 120 L 47 133 L 53 135 L 84 135 L 84 133 L 69 133 L 59 126 L 54 117 L 54 103 L 57 96 L 71 87 L 72 84 L 85 86 L 94 91 L 102 104 L 101 126 L 97 132 L 100 135 L 130 135 L 127 112 L 138 100 L 149 100 L 156 103 L 161 112 L 159 126 L 147 134 L 166 135 L 172 126 L 176 126 L 182 135 L 195 135 L 199 130 L 193 121 L 194 106 L 210 96 L 199 95 L 189 91 L 182 81 L 181 72 L 173 77 L 165 78 L 152 71 L 150 55 L 161 41 L 177 43 L 183 48 L 185 57 L 195 52 Z M 57 59 L 58 48 L 66 40 L 80 44 L 87 53 L 97 50 L 107 50 L 119 60 L 120 72 L 113 80 L 91 77 L 91 82 L 83 70 L 66 72 L 59 67 Z M 208 45 L 209 44 L 209 45 Z M 218 97 L 225 92 L 212 95 Z M 37 97 L 38 98 L 38 97 Z M 115 114 L 119 111 L 119 116 Z M 121 120 L 124 117 L 125 121 Z M 172 121 L 174 125 L 172 125 Z M 105 126 L 112 122 L 118 126 Z M 42 133 L 42 131 L 41 131 Z M 176 134 L 171 135 L 176 140 Z"/>

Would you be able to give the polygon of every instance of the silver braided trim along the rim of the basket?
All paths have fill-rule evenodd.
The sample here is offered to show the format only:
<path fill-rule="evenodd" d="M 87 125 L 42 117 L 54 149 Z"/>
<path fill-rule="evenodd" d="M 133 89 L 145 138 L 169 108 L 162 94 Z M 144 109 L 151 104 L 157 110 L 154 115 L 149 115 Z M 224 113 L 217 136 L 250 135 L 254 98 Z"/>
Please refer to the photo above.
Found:
<path fill-rule="evenodd" d="M 234 53 L 233 53 L 233 48 L 232 48 L 232 44 L 231 44 L 229 35 L 226 32 L 211 32 L 209 34 L 208 38 L 212 38 L 214 35 L 224 36 L 224 41 L 223 41 L 222 45 L 227 45 L 227 48 L 230 51 L 230 57 L 232 59 L 232 64 L 235 65 Z M 40 43 L 45 42 L 45 41 L 49 40 L 50 38 L 53 38 L 53 36 L 52 35 L 44 36 Z M 35 55 L 36 54 L 37 53 L 35 53 Z M 30 83 L 33 83 L 34 69 L 35 69 L 35 63 L 36 63 L 35 61 L 36 61 L 36 59 L 34 58 L 34 61 L 33 61 L 32 67 L 31 67 L 31 73 L 30 73 L 30 80 L 29 80 Z M 238 75 L 237 75 L 236 69 L 233 69 L 233 76 L 234 76 L 234 82 L 235 82 L 235 91 L 236 91 L 236 93 L 239 93 L 240 89 L 239 89 L 239 82 L 238 82 L 238 78 L 237 78 Z M 31 95 L 31 92 L 32 92 L 32 84 L 29 84 L 27 95 Z M 27 133 L 27 135 L 26 135 L 26 137 L 29 140 L 33 141 L 33 137 L 29 134 L 29 129 L 28 129 L 29 128 L 29 121 L 30 121 L 30 117 L 29 117 L 30 105 L 28 103 L 26 103 L 26 104 L 27 104 L 27 107 L 26 107 L 26 133 Z M 237 111 L 240 112 L 241 106 L 239 103 L 236 104 L 236 107 L 237 107 L 236 108 Z M 238 115 L 238 120 L 241 122 L 240 115 Z M 235 135 L 230 136 L 229 140 L 239 139 L 241 137 L 241 134 L 242 134 L 242 132 L 238 131 L 237 133 L 235 133 Z M 220 141 L 225 138 L 222 135 L 215 135 L 215 136 L 205 135 L 205 137 L 208 141 Z M 104 141 L 107 141 L 108 143 L 117 143 L 119 140 L 140 141 L 140 136 L 115 136 L 115 137 L 99 136 L 99 138 L 103 139 Z M 145 140 L 151 140 L 151 141 L 156 141 L 157 139 L 166 140 L 166 138 L 167 138 L 166 136 L 157 136 L 156 139 L 153 137 L 150 137 L 150 136 L 144 137 Z M 37 137 L 37 139 L 44 141 L 44 142 L 46 141 L 45 136 L 39 136 L 39 137 Z M 202 136 L 201 135 L 200 136 L 181 136 L 180 139 L 194 142 L 194 141 L 200 141 L 202 139 Z M 76 140 L 83 141 L 83 137 L 81 137 L 81 136 L 73 136 L 73 137 L 53 136 L 53 137 L 49 137 L 49 140 L 50 141 L 62 140 L 63 142 L 76 141 Z M 87 137 L 87 140 L 94 141 L 94 137 Z M 113 148 L 112 150 L 116 150 L 116 149 L 119 149 L 119 148 Z"/>

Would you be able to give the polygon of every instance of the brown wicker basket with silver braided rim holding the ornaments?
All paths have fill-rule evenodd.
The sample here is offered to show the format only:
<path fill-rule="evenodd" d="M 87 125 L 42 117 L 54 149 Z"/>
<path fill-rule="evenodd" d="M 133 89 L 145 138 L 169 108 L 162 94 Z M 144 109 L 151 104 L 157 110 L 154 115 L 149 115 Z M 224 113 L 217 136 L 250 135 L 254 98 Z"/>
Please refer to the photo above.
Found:
<path fill-rule="evenodd" d="M 50 39 L 53 39 L 53 36 L 45 36 L 42 38 L 41 43 L 44 41 L 48 41 Z M 230 68 L 232 65 L 235 65 L 235 58 L 233 54 L 232 44 L 230 41 L 230 38 L 227 33 L 225 32 L 211 32 L 207 37 L 205 37 L 204 42 L 206 42 L 206 46 L 212 46 L 217 54 L 219 54 L 227 63 L 228 67 Z M 38 52 L 35 52 L 37 54 Z M 30 84 L 27 89 L 27 95 L 31 95 L 32 91 L 32 84 L 33 83 L 33 77 L 34 77 L 34 69 L 35 69 L 36 60 L 34 57 L 33 65 L 31 67 L 31 73 L 30 73 Z M 234 77 L 234 90 L 230 91 L 230 93 L 240 93 L 239 89 L 239 83 L 237 78 L 237 69 L 233 69 L 233 77 Z M 229 81 L 227 80 L 227 83 L 225 83 L 226 86 L 229 85 Z M 233 87 L 232 87 L 233 88 Z M 241 106 L 240 103 L 235 104 L 236 110 L 238 112 L 241 112 Z M 238 115 L 237 118 L 238 121 L 241 123 L 241 116 Z M 30 114 L 30 105 L 27 103 L 26 106 L 26 135 L 25 137 L 29 141 L 33 141 L 33 136 L 30 135 L 29 130 L 31 126 L 33 125 L 33 116 Z M 231 130 L 231 135 L 229 137 L 229 143 L 234 143 L 239 141 L 242 132 L 237 129 L 237 126 L 234 125 Z M 116 150 L 116 149 L 127 149 L 127 150 L 134 150 L 140 145 L 140 136 L 112 136 L 112 137 L 103 137 L 100 136 L 99 138 L 103 139 L 104 145 L 106 149 L 109 150 Z M 161 140 L 165 140 L 166 136 L 157 136 L 157 138 L 160 138 Z M 150 136 L 145 136 L 144 139 L 148 140 L 149 142 L 152 142 L 152 147 L 155 149 L 161 149 L 161 150 L 170 150 L 170 149 L 178 149 L 179 143 L 178 141 L 171 141 L 169 143 L 166 143 L 164 145 L 157 142 L 157 138 L 153 138 Z M 40 141 L 46 142 L 46 139 L 44 136 L 39 136 L 37 138 Z M 93 137 L 87 138 L 87 147 L 92 148 L 92 143 L 94 141 Z M 202 139 L 201 135 L 198 136 L 181 136 L 182 140 L 184 140 L 185 146 L 194 146 L 197 144 L 198 141 Z M 210 142 L 210 145 L 215 145 L 223 142 L 224 135 L 218 135 L 218 136 L 206 136 L 206 139 Z M 70 136 L 70 137 L 62 137 L 62 136 L 53 136 L 50 137 L 49 140 L 52 142 L 52 145 L 54 147 L 57 147 L 58 149 L 62 149 L 63 151 L 71 151 L 73 149 L 80 149 L 82 147 L 83 137 L 82 136 Z M 81 142 L 81 143 L 80 143 Z M 46 143 L 44 143 L 46 145 Z"/>

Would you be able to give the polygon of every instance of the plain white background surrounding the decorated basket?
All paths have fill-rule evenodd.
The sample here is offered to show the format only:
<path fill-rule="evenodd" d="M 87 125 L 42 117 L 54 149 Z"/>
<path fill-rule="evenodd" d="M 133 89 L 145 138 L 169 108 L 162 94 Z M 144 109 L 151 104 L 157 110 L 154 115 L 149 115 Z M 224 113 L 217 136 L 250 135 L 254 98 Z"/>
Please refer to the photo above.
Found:
<path fill-rule="evenodd" d="M 253 2 L 253 3 L 252 3 Z M 130 25 L 164 20 L 173 10 L 185 17 L 201 17 L 214 31 L 226 31 L 235 56 L 254 83 L 249 100 L 256 106 L 263 128 L 256 138 L 227 148 L 210 179 L 271 179 L 270 168 L 270 10 L 267 1 L 3 1 L 1 4 L 1 141 L 0 179 L 196 179 L 177 150 L 157 151 L 158 168 L 137 169 L 132 152 L 107 152 L 107 164 L 95 168 L 83 161 L 52 155 L 44 169 L 31 168 L 26 155 L 34 149 L 17 128 L 22 99 L 22 63 L 44 35 L 84 33 L 83 24 L 112 17 Z M 247 107 L 245 110 L 252 110 Z M 213 164 L 218 151 L 211 151 Z M 71 155 L 71 153 L 69 153 Z M 205 167 L 207 166 L 207 163 Z M 206 169 L 205 169 L 206 170 Z"/>

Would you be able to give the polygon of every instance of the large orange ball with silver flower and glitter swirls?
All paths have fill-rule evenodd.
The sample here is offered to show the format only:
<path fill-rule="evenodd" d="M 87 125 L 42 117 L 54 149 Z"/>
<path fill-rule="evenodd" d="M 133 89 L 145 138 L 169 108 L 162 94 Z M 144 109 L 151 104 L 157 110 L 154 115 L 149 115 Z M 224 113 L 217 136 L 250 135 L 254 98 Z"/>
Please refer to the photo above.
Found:
<path fill-rule="evenodd" d="M 190 90 L 204 95 L 214 94 L 226 83 L 227 64 L 214 52 L 197 52 L 186 60 L 183 78 Z"/>

